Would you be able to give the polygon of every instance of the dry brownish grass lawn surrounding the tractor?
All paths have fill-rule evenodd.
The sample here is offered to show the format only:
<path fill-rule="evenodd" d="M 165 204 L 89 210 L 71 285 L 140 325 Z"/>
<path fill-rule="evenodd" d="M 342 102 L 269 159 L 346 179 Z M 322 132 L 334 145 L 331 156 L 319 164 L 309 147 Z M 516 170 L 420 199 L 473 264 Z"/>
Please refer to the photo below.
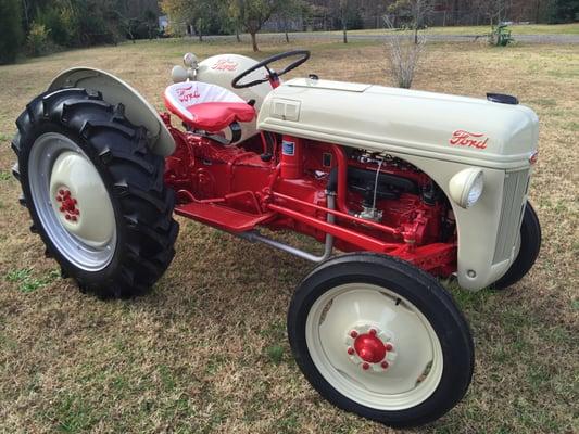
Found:
<path fill-rule="evenodd" d="M 389 84 L 379 43 L 303 44 L 313 55 L 295 75 Z M 291 48 L 263 43 L 260 55 Z M 171 67 L 188 50 L 250 54 L 247 44 L 164 40 L 0 67 L 0 432 L 394 432 L 333 408 L 297 368 L 286 309 L 310 264 L 179 218 L 177 255 L 152 293 L 104 303 L 61 280 L 29 232 L 10 174 L 10 139 L 25 104 L 59 71 L 89 65 L 119 75 L 161 108 Z M 577 46 L 432 43 L 414 87 L 513 93 L 537 111 L 530 196 L 543 248 L 530 275 L 505 292 L 453 290 L 475 336 L 475 376 L 456 408 L 413 432 L 579 432 Z"/>

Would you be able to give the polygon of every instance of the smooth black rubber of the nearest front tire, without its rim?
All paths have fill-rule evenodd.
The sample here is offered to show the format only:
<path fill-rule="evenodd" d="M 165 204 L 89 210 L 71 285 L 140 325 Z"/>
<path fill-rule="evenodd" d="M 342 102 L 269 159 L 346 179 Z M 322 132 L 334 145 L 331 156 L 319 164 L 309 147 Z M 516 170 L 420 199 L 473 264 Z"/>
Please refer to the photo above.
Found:
<path fill-rule="evenodd" d="M 323 376 L 307 348 L 306 321 L 316 299 L 344 283 L 388 288 L 414 304 L 427 318 L 441 344 L 443 368 L 440 382 L 426 400 L 401 410 L 376 409 L 343 395 Z M 402 260 L 377 254 L 338 256 L 315 268 L 291 301 L 288 336 L 298 366 L 324 398 L 343 410 L 394 427 L 421 425 L 446 413 L 465 395 L 474 370 L 470 331 L 452 296 L 430 275 Z"/>

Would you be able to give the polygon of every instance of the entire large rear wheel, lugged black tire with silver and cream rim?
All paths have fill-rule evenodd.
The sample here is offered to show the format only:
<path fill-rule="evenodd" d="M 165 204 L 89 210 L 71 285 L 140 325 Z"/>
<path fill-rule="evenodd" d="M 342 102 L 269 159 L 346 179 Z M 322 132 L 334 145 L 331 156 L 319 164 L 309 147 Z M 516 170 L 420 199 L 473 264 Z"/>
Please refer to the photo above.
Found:
<path fill-rule="evenodd" d="M 178 225 L 148 131 L 122 104 L 76 88 L 39 95 L 16 125 L 22 202 L 63 275 L 101 297 L 150 289 L 175 255 Z"/>

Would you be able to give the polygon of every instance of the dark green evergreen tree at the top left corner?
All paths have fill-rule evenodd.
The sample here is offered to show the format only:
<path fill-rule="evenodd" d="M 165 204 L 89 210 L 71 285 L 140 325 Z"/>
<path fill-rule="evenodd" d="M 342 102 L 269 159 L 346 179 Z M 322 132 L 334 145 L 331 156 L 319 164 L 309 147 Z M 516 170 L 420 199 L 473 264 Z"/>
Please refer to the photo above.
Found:
<path fill-rule="evenodd" d="M 18 0 L 0 0 L 0 64 L 14 62 L 23 39 Z"/>

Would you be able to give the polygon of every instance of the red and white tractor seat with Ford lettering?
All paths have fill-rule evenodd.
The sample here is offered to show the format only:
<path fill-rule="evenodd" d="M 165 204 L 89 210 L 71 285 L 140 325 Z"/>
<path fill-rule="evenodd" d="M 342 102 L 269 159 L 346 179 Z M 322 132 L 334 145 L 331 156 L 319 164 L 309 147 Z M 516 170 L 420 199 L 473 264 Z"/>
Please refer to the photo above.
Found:
<path fill-rule="evenodd" d="M 255 108 L 234 92 L 207 82 L 176 82 L 165 89 L 165 106 L 194 129 L 217 132 L 234 122 L 251 122 Z"/>

